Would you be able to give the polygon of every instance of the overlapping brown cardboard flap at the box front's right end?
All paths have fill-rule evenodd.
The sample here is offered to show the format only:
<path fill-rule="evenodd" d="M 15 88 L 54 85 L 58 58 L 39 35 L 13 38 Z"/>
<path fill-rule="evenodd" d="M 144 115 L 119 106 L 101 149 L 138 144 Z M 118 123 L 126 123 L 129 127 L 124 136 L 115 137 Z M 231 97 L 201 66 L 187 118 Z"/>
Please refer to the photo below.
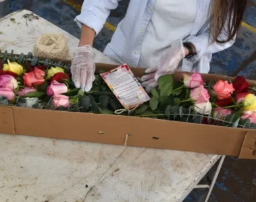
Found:
<path fill-rule="evenodd" d="M 248 132 L 245 135 L 245 140 L 238 158 L 256 160 L 256 132 Z"/>

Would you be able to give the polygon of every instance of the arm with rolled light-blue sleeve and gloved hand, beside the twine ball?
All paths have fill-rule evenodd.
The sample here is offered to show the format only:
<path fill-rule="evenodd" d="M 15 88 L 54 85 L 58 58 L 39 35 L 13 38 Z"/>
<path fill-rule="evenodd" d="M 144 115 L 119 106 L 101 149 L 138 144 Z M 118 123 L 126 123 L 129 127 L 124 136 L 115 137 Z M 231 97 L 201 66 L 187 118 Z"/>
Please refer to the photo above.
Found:
<path fill-rule="evenodd" d="M 81 27 L 81 36 L 70 69 L 76 88 L 83 92 L 91 90 L 95 79 L 93 40 L 103 28 L 110 10 L 116 7 L 118 0 L 84 0 L 82 12 L 75 19 Z"/>

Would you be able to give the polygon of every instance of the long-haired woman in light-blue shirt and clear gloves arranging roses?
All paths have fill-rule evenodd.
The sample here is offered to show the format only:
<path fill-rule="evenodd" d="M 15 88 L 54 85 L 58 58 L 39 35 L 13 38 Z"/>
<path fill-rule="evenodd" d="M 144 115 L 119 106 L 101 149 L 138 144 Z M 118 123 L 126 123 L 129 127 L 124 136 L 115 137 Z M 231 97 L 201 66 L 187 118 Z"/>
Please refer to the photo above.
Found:
<path fill-rule="evenodd" d="M 211 55 L 232 44 L 247 0 L 130 0 L 104 53 L 130 67 L 146 67 L 143 86 L 157 86 L 161 75 L 209 72 Z M 118 0 L 84 0 L 75 19 L 82 28 L 71 73 L 76 88 L 88 92 L 95 79 L 93 40 Z"/>

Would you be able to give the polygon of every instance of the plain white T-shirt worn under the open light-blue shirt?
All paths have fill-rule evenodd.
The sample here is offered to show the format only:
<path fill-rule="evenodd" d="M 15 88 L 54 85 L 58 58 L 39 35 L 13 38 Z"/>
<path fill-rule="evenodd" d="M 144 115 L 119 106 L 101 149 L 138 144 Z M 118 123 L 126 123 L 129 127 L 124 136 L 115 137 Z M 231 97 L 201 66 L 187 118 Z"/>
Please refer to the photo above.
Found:
<path fill-rule="evenodd" d="M 157 0 L 147 26 L 139 67 L 154 67 L 172 42 L 190 36 L 195 24 L 197 0 Z"/>

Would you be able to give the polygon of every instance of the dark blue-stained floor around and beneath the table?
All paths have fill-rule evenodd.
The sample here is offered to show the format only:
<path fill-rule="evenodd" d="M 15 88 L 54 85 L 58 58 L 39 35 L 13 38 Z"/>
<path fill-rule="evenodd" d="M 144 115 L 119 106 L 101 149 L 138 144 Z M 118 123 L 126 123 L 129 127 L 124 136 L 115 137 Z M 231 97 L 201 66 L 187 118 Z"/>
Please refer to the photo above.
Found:
<path fill-rule="evenodd" d="M 81 3 L 82 0 L 3 0 L 0 1 L 0 18 L 19 9 L 30 9 L 79 38 L 80 29 L 76 26 L 74 18 L 79 13 Z M 124 17 L 127 5 L 128 0 L 120 1 L 120 7 L 111 12 L 107 21 L 117 26 Z M 249 1 L 244 22 L 256 28 L 256 0 Z M 103 28 L 95 39 L 95 48 L 102 51 L 112 34 L 111 28 Z M 242 27 L 234 46 L 213 55 L 211 73 L 244 75 L 249 79 L 256 79 L 255 46 L 256 33 L 252 29 Z M 213 172 L 214 169 L 203 180 L 211 178 Z M 184 201 L 202 201 L 205 193 L 202 189 L 195 190 Z M 256 201 L 256 161 L 227 157 L 209 201 Z"/>

